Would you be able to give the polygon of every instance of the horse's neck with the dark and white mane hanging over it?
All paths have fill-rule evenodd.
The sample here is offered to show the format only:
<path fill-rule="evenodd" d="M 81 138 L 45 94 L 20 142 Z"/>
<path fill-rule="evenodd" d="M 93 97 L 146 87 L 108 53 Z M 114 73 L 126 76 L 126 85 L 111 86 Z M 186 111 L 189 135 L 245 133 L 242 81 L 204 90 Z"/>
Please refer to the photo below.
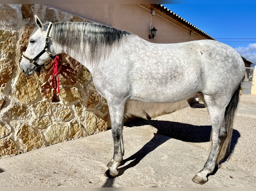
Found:
<path fill-rule="evenodd" d="M 81 23 L 80 25 L 78 23 L 68 23 L 68 25 L 69 26 L 65 28 L 64 33 L 60 33 L 60 29 L 62 29 L 62 31 L 64 30 L 61 23 L 55 25 L 54 29 L 56 30 L 56 33 L 53 30 L 53 37 L 55 37 L 56 42 L 52 42 L 54 46 L 53 50 L 58 50 L 58 53 L 66 53 L 71 56 L 84 65 L 91 73 L 93 72 L 94 67 L 104 63 L 103 61 L 112 55 L 113 48 L 116 50 L 117 47 L 125 44 L 118 44 L 120 41 L 122 42 L 123 39 L 131 35 L 128 32 L 112 28 L 104 28 L 103 26 L 91 26 L 88 24 L 88 29 L 83 31 L 84 26 Z M 70 29 L 75 28 L 77 29 L 76 34 L 74 34 L 74 31 L 69 31 Z M 113 33 L 113 30 L 116 31 L 116 33 Z M 84 35 L 83 32 L 86 33 L 86 35 Z M 107 38 L 106 35 L 101 36 L 104 33 L 108 34 L 110 37 Z M 74 36 L 71 36 L 71 34 Z M 81 38 L 81 34 L 83 38 Z M 99 43 L 99 41 L 101 42 Z"/>

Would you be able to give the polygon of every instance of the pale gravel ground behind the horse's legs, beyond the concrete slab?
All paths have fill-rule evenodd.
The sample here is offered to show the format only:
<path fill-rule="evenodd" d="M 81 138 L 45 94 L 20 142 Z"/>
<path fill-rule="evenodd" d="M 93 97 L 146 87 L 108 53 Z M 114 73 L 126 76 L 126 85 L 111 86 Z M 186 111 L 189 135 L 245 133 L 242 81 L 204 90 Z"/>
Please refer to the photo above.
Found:
<path fill-rule="evenodd" d="M 241 103 L 256 104 L 256 95 L 240 95 Z M 211 122 L 206 108 L 186 107 L 151 120 L 138 120 L 127 126 L 149 130 L 203 148 L 209 153 Z M 227 161 L 256 177 L 256 118 L 236 116 Z"/>

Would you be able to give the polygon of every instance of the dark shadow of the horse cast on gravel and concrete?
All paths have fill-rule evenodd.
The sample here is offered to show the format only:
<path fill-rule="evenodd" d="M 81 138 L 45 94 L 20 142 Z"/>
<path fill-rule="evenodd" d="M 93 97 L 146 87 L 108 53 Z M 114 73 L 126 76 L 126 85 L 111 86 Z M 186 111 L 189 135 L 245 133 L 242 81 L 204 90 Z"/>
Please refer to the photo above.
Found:
<path fill-rule="evenodd" d="M 136 166 L 148 153 L 150 153 L 151 151 L 153 151 L 158 146 L 160 146 L 165 141 L 171 138 L 194 143 L 209 142 L 212 131 L 211 125 L 198 126 L 173 121 L 139 119 L 125 124 L 125 126 L 127 127 L 138 127 L 143 125 L 151 125 L 155 127 L 157 129 L 157 133 L 154 133 L 154 137 L 150 141 L 148 141 L 140 150 L 138 150 L 136 153 L 123 160 L 123 162 L 120 164 L 118 168 L 119 173 L 117 176 L 121 176 L 125 172 L 125 170 Z M 230 151 L 227 153 L 222 162 L 224 162 L 230 157 L 235 148 L 235 145 L 237 144 L 239 137 L 239 131 L 233 129 Z M 131 162 L 126 166 L 123 166 L 128 161 Z M 213 173 L 215 173 L 216 171 L 217 169 Z M 108 179 L 102 187 L 112 187 L 114 181 L 115 178 L 108 177 Z"/>

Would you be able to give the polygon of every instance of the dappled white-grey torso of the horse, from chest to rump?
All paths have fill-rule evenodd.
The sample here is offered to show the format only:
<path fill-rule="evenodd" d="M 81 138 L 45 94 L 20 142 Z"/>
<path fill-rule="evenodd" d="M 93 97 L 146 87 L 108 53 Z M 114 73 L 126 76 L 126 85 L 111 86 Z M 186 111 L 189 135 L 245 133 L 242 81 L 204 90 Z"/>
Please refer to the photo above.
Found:
<path fill-rule="evenodd" d="M 105 98 L 174 102 L 197 93 L 233 94 L 244 77 L 241 56 L 220 42 L 155 44 L 129 38 L 95 67 L 95 87 Z"/>

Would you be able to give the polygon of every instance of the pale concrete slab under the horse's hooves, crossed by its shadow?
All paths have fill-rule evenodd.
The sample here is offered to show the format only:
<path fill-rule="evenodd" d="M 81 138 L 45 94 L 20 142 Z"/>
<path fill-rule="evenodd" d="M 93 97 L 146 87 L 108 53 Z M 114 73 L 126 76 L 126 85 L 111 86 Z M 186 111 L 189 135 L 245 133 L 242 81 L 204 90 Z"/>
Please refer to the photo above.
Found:
<path fill-rule="evenodd" d="M 245 107 L 246 108 L 246 107 Z M 116 178 L 104 176 L 113 156 L 111 130 L 0 159 L 1 187 L 256 187 L 230 162 L 204 185 L 191 179 L 209 152 L 148 130 L 124 127 L 125 155 Z"/>

